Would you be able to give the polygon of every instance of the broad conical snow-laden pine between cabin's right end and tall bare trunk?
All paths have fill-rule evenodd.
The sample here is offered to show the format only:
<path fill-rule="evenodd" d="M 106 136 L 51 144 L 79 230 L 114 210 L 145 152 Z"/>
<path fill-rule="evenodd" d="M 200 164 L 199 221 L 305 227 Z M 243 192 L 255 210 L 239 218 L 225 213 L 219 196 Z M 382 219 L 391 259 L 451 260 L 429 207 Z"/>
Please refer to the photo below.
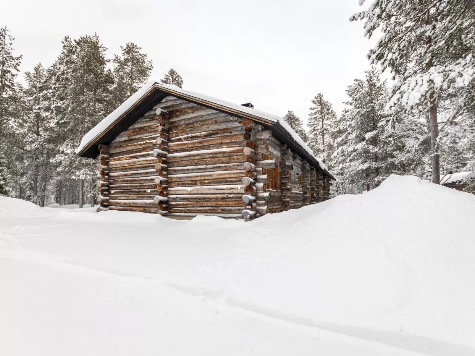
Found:
<path fill-rule="evenodd" d="M 355 79 L 346 90 L 349 107 L 340 120 L 342 136 L 333 154 L 333 169 L 360 191 L 377 187 L 393 170 L 385 136 L 386 83 L 374 67 L 365 74 L 364 80 Z"/>

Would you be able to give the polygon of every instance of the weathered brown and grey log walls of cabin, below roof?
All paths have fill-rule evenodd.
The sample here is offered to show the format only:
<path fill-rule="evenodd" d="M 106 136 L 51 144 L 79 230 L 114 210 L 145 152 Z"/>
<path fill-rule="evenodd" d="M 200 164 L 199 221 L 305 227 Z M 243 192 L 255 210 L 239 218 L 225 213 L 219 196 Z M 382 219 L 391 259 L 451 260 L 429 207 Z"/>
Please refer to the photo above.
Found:
<path fill-rule="evenodd" d="M 323 201 L 331 185 L 263 126 L 173 96 L 99 146 L 98 211 L 252 219 Z"/>

